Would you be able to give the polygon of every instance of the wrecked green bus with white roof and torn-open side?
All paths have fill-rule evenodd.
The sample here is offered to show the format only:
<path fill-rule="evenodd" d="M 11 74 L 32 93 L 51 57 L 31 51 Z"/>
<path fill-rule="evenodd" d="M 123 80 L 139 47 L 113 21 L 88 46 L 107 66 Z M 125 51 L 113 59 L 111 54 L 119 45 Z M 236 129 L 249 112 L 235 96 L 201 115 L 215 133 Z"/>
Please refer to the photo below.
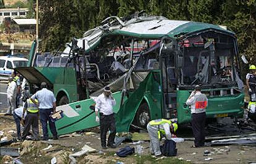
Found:
<path fill-rule="evenodd" d="M 145 14 L 109 17 L 63 52 L 33 52 L 31 67 L 17 71 L 54 91 L 64 111 L 56 122 L 59 134 L 98 126 L 90 105 L 105 86 L 117 102 L 117 131 L 145 128 L 155 118 L 189 123 L 184 104 L 196 84 L 207 94 L 208 118 L 244 112 L 237 39 L 218 25 Z"/>

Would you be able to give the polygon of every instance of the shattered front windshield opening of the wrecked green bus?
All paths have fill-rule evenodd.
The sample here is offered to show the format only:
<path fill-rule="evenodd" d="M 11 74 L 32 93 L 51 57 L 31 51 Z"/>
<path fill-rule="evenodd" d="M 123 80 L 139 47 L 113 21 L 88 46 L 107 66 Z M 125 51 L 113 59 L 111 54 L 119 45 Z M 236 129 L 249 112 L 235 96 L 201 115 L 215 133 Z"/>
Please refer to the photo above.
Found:
<path fill-rule="evenodd" d="M 205 47 L 203 41 L 195 41 L 195 39 L 193 41 L 194 43 L 187 46 L 185 44 L 183 47 L 182 84 L 227 84 L 234 81 L 232 73 L 234 46 L 232 43 L 223 45 L 217 40 L 214 41 L 213 48 L 210 48 Z"/>

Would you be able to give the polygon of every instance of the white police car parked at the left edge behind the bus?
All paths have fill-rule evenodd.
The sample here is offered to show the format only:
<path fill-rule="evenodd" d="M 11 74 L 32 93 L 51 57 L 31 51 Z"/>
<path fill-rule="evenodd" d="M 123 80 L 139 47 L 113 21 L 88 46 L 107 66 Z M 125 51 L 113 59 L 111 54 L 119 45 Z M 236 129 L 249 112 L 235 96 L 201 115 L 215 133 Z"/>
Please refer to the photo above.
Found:
<path fill-rule="evenodd" d="M 23 57 L 0 56 L 0 80 L 8 80 L 16 67 L 26 67 L 28 59 Z"/>

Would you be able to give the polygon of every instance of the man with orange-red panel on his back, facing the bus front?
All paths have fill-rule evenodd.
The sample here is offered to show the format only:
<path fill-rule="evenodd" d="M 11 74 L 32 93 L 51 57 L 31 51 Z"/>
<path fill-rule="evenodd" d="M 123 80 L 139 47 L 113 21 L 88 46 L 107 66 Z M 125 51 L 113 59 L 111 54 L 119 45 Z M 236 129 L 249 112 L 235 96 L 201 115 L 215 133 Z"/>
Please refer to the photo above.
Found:
<path fill-rule="evenodd" d="M 205 145 L 205 109 L 208 105 L 208 99 L 205 94 L 201 93 L 200 86 L 195 86 L 195 91 L 190 94 L 186 105 L 190 105 L 192 116 L 192 131 L 195 137 L 192 147 L 202 147 Z"/>

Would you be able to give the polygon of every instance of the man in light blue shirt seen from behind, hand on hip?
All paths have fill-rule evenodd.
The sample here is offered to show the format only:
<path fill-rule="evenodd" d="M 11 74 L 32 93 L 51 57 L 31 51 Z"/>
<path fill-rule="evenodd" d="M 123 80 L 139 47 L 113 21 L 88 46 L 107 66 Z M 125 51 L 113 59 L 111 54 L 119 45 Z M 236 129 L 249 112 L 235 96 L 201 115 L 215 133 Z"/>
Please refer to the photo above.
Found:
<path fill-rule="evenodd" d="M 43 140 L 48 140 L 48 122 L 49 129 L 53 134 L 53 139 L 58 139 L 55 123 L 50 119 L 51 113 L 56 112 L 56 98 L 53 92 L 47 89 L 47 84 L 43 82 L 41 83 L 41 90 L 37 91 L 30 99 L 39 107 L 40 122 L 43 128 Z M 38 102 L 36 102 L 35 99 L 37 99 Z"/>

